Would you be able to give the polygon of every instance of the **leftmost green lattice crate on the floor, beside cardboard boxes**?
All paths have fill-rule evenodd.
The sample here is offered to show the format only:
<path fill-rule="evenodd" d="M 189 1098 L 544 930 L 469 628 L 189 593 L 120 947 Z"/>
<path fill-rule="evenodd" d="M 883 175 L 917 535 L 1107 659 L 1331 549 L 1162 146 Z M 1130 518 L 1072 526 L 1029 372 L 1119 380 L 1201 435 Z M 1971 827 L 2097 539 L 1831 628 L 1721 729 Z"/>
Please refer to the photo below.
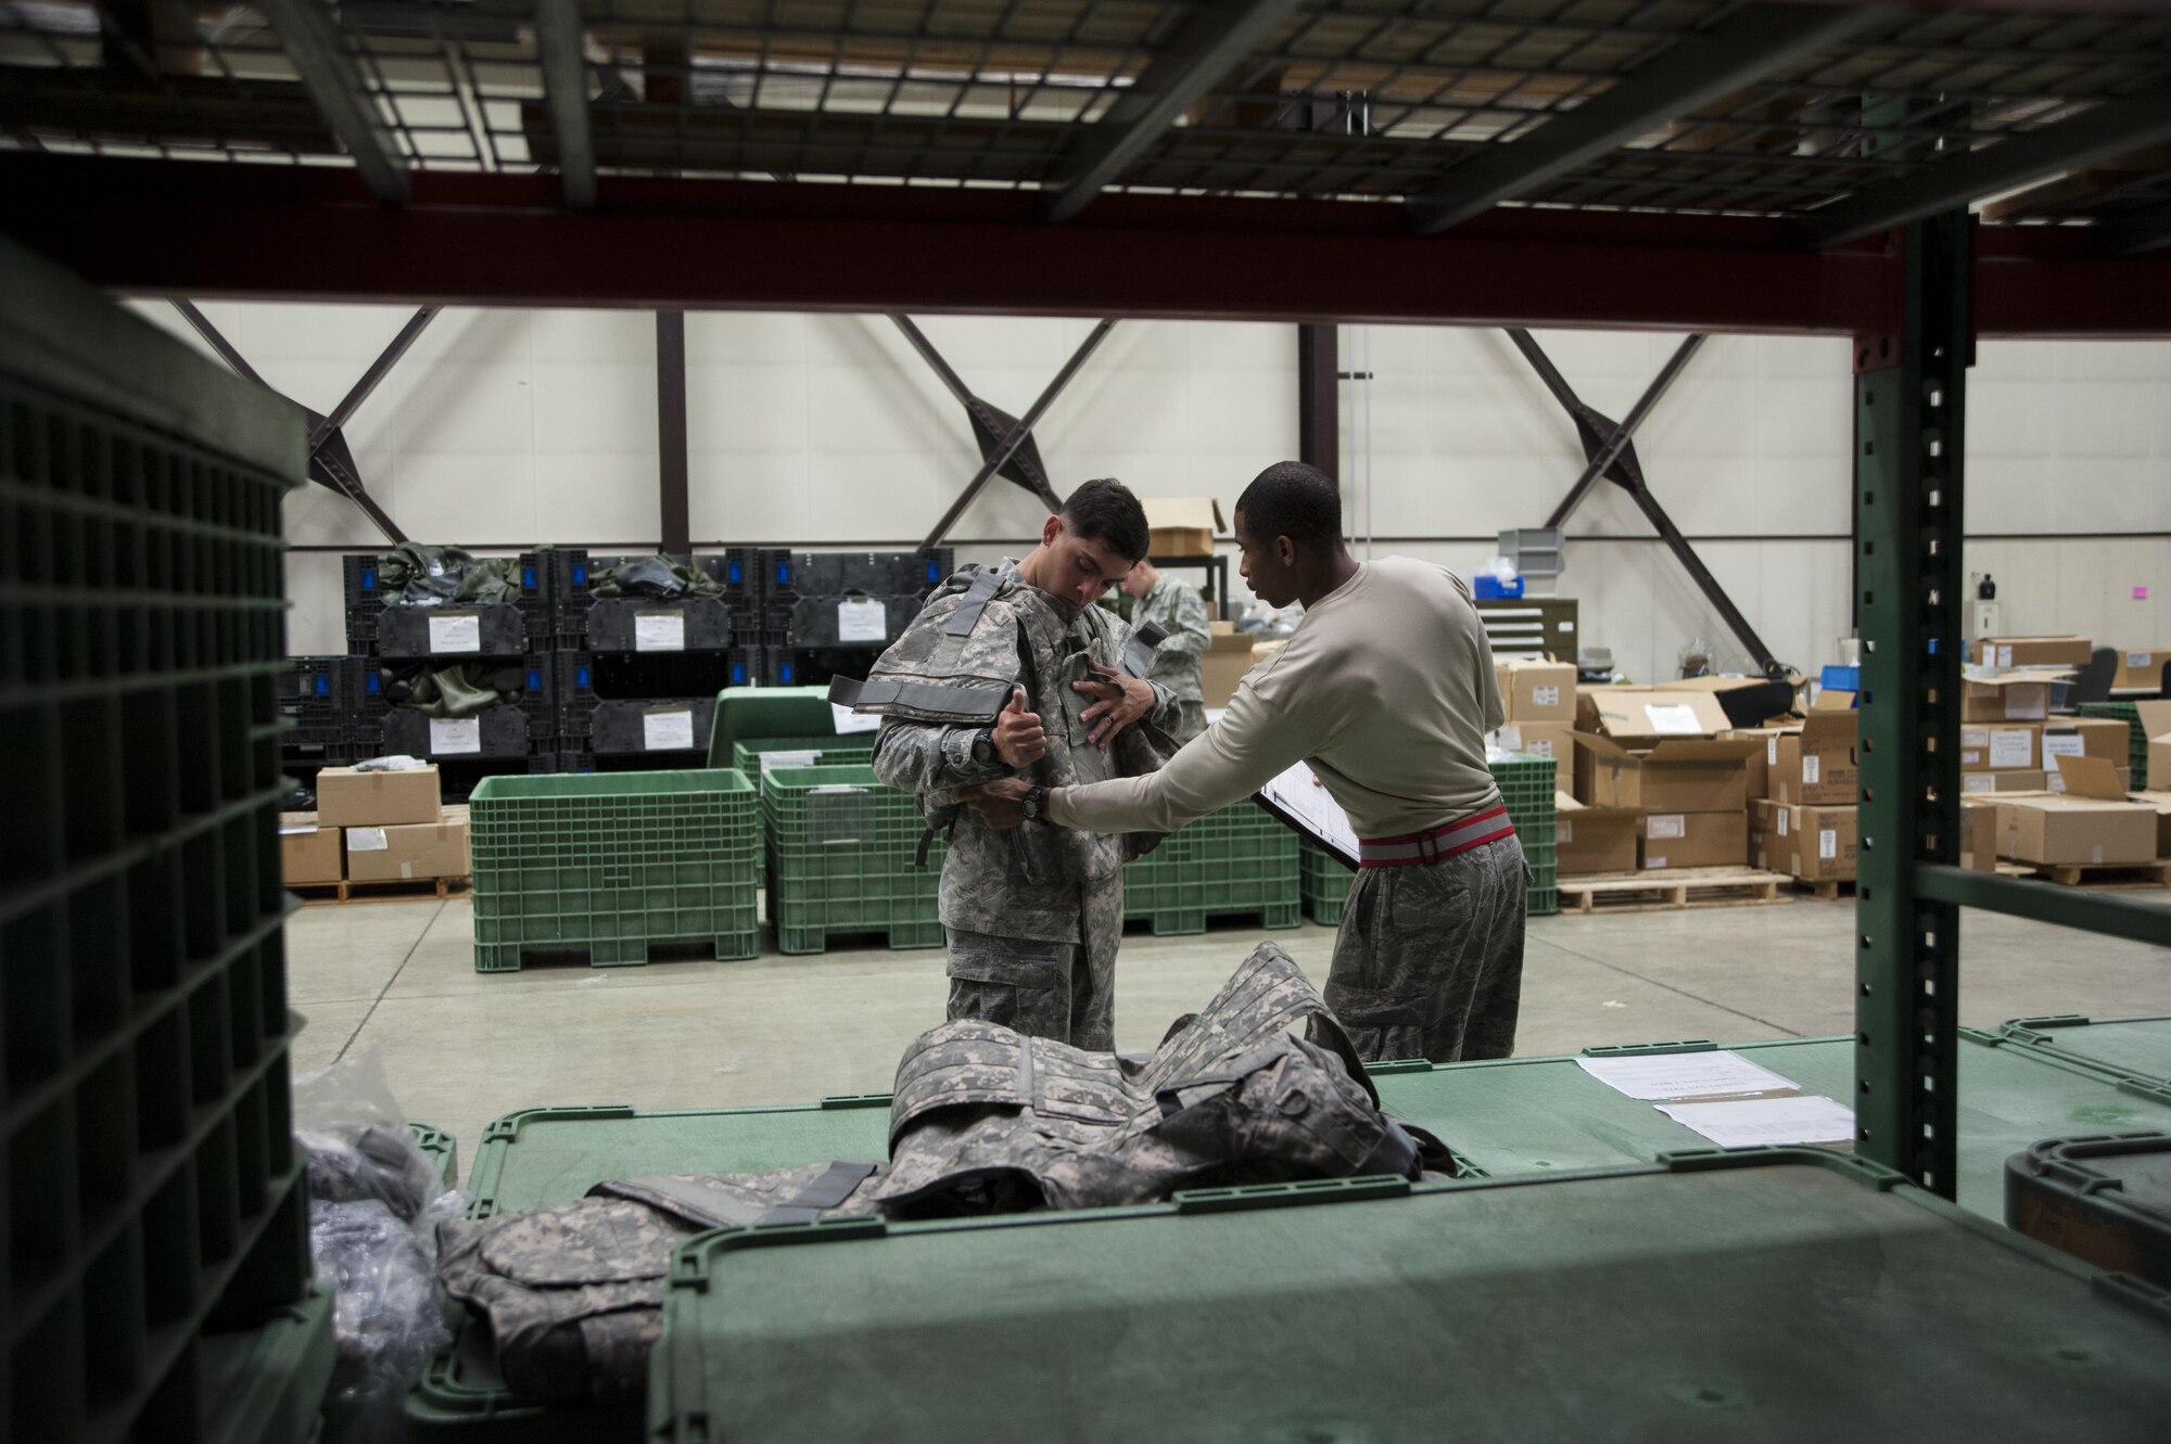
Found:
<path fill-rule="evenodd" d="M 729 768 L 488 776 L 469 800 L 475 971 L 584 950 L 595 967 L 656 945 L 760 952 L 753 785 Z"/>

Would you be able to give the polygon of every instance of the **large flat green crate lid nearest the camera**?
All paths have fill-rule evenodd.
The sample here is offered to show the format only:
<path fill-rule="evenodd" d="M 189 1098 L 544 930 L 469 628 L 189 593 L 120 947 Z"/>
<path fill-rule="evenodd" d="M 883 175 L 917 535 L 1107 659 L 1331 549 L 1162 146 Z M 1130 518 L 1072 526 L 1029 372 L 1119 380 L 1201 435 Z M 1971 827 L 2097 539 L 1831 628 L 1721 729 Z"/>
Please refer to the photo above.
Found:
<path fill-rule="evenodd" d="M 1693 1151 L 712 1229 L 647 1440 L 2154 1442 L 2167 1355 L 2160 1294 L 1889 1169 Z"/>

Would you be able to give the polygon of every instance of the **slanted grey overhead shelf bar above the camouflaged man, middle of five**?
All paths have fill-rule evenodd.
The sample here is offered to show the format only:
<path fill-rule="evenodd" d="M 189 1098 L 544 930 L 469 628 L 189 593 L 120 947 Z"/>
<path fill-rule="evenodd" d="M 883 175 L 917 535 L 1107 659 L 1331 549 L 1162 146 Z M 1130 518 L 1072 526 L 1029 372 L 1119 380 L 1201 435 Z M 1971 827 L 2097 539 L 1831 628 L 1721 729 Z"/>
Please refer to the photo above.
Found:
<path fill-rule="evenodd" d="M 1057 163 L 1044 186 L 1049 219 L 1068 221 L 1090 206 L 1294 9 L 1296 0 L 1207 0 L 1194 11 Z"/>

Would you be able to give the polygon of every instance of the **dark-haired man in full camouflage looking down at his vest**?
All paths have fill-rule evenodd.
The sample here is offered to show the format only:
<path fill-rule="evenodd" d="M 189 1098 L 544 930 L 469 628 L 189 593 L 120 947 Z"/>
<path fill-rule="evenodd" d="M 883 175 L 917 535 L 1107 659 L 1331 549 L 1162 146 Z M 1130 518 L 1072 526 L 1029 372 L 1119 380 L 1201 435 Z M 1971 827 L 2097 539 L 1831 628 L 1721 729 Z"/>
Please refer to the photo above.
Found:
<path fill-rule="evenodd" d="M 1177 698 L 1144 679 L 1151 653 L 1092 605 L 1146 553 L 1146 514 L 1118 481 L 1088 481 L 1040 546 L 964 568 L 864 683 L 831 700 L 881 713 L 875 774 L 949 828 L 940 915 L 949 1017 L 1107 1049 L 1116 1043 L 1122 865 L 1157 835 L 1029 824 L 988 828 L 964 800 L 996 778 L 1055 787 L 1138 776 L 1175 750 Z"/>

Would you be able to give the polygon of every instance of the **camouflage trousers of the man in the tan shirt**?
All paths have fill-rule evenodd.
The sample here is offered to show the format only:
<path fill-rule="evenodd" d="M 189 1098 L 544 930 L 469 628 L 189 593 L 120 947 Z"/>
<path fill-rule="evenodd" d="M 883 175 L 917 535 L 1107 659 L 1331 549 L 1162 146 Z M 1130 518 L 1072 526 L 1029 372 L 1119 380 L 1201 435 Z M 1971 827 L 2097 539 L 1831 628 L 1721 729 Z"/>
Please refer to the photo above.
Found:
<path fill-rule="evenodd" d="M 1366 1062 L 1515 1052 L 1531 869 L 1513 837 L 1420 867 L 1359 867 L 1326 971 Z"/>

